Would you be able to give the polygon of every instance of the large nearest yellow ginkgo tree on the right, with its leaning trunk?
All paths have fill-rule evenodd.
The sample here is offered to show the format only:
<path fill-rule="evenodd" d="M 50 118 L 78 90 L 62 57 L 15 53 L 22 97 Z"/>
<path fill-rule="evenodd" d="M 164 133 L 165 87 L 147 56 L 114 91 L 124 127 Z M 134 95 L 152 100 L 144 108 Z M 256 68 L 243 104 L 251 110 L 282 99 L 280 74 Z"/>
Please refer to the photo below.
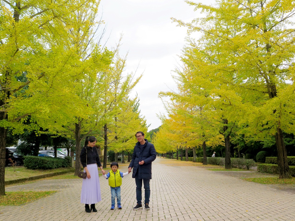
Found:
<path fill-rule="evenodd" d="M 276 0 L 226 0 L 214 6 L 187 3 L 205 16 L 190 23 L 174 20 L 189 32 L 202 33 L 191 51 L 210 55 L 202 70 L 204 76 L 211 73 L 207 77 L 215 87 L 211 93 L 219 110 L 227 107 L 224 124 L 243 113 L 245 117 L 230 122 L 243 125 L 246 136 L 263 140 L 273 135 L 279 178 L 289 177 L 283 132 L 294 131 L 294 4 Z M 213 70 L 205 71 L 213 63 Z"/>

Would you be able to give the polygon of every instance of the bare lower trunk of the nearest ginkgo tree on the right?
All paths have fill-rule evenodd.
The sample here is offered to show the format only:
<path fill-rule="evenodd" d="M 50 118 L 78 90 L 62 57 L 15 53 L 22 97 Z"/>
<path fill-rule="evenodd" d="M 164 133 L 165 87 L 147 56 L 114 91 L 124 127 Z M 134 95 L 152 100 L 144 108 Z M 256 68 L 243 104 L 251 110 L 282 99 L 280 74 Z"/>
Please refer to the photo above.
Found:
<path fill-rule="evenodd" d="M 278 172 L 279 179 L 290 178 L 289 165 L 287 159 L 287 151 L 284 143 L 283 132 L 281 128 L 277 128 L 275 135 L 276 138 L 276 147 L 278 151 Z"/>

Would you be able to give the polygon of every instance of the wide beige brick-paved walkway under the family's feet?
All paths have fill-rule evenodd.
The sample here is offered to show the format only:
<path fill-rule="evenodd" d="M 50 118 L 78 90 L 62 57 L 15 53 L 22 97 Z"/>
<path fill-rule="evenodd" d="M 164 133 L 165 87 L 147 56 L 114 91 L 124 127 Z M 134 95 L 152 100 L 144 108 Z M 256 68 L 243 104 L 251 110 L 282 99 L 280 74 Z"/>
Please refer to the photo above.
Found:
<path fill-rule="evenodd" d="M 127 166 L 119 169 L 125 172 Z M 191 162 L 163 158 L 153 162 L 151 210 L 132 210 L 136 197 L 131 175 L 123 178 L 122 210 L 109 210 L 111 194 L 103 177 L 100 177 L 102 201 L 96 205 L 96 213 L 86 213 L 80 203 L 82 179 L 42 180 L 7 187 L 6 191 L 59 191 L 21 206 L 0 207 L 0 220 L 295 220 L 295 191 L 246 182 L 224 172 L 193 166 Z"/>

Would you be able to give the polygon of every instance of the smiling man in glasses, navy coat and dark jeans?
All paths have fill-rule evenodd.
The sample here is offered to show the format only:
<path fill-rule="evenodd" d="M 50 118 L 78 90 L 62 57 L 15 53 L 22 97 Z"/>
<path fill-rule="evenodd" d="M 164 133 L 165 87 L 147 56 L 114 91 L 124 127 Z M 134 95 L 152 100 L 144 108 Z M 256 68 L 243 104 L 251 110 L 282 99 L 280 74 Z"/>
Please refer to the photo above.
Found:
<path fill-rule="evenodd" d="M 145 210 L 149 210 L 150 202 L 150 179 L 152 179 L 152 162 L 156 159 L 156 150 L 153 144 L 145 139 L 143 132 L 138 131 L 135 134 L 137 143 L 135 144 L 132 160 L 129 164 L 128 171 L 133 167 L 132 178 L 135 178 L 136 183 L 136 199 L 137 205 L 133 210 L 142 209 L 142 182 L 145 189 Z"/>

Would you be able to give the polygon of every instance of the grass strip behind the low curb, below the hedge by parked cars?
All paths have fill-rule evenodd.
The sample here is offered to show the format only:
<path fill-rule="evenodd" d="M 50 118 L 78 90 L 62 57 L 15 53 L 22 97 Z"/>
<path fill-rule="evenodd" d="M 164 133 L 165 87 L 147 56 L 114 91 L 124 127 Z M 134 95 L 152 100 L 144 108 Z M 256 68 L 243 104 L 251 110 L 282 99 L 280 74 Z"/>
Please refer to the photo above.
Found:
<path fill-rule="evenodd" d="M 27 178 L 27 177 L 34 177 L 42 174 L 50 174 L 54 172 L 60 172 L 60 171 L 73 171 L 73 168 L 65 168 L 60 167 L 56 169 L 48 169 L 48 170 L 42 170 L 42 169 L 27 169 L 24 166 L 17 166 L 15 171 L 15 167 L 8 166 L 5 167 L 5 181 L 6 180 L 13 180 L 13 179 L 21 179 L 21 178 Z"/>

